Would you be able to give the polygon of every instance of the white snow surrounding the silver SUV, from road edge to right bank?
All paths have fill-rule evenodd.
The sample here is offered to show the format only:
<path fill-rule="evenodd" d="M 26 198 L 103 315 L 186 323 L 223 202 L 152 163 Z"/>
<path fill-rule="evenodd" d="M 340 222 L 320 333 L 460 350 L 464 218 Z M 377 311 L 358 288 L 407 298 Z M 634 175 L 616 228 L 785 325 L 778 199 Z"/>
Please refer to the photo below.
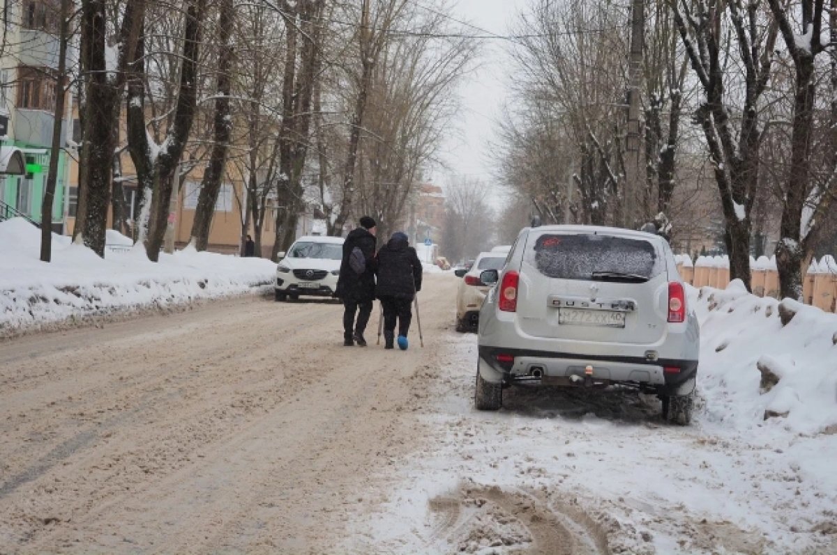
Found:
<path fill-rule="evenodd" d="M 347 548 L 506 553 L 565 527 L 590 548 L 562 552 L 837 552 L 837 316 L 788 303 L 783 326 L 740 282 L 689 298 L 702 348 L 686 428 L 627 392 L 506 390 L 503 410 L 478 412 L 475 336 L 450 332 L 421 417 L 439 448 L 401 461 Z"/>

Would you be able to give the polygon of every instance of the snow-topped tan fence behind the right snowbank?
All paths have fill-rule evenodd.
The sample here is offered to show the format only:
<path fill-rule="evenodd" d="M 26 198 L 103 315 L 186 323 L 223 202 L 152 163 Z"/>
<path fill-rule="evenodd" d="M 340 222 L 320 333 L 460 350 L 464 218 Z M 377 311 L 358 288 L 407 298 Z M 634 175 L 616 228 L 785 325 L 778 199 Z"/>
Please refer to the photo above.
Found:
<path fill-rule="evenodd" d="M 696 288 L 705 286 L 723 289 L 730 282 L 727 257 L 698 257 L 692 263 L 688 255 L 678 255 L 677 270 L 686 283 Z M 779 275 L 776 259 L 750 258 L 752 293 L 759 297 L 779 297 Z M 803 300 L 825 312 L 837 312 L 837 262 L 834 257 L 825 256 L 819 262 L 811 262 L 803 282 Z"/>

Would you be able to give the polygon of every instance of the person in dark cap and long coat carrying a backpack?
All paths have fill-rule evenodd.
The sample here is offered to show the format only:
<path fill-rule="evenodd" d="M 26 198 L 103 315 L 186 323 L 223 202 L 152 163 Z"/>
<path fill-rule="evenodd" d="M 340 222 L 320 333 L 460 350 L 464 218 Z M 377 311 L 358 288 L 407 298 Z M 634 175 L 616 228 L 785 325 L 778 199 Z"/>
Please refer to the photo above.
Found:
<path fill-rule="evenodd" d="M 343 260 L 340 263 L 340 277 L 337 279 L 336 297 L 343 301 L 343 344 L 352 347 L 357 343 L 366 347 L 363 332 L 372 313 L 375 300 L 375 221 L 363 216 L 360 227 L 346 236 L 343 243 Z M 363 254 L 365 268 L 358 273 L 349 262 L 352 250 L 357 247 Z M 355 314 L 357 313 L 357 322 Z"/>

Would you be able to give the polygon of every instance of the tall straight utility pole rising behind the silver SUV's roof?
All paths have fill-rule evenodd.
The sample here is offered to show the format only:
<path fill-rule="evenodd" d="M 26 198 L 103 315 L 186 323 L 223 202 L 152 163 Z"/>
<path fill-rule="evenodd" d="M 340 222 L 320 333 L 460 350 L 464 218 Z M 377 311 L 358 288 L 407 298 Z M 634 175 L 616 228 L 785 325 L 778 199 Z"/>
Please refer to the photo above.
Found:
<path fill-rule="evenodd" d="M 642 179 L 642 148 L 639 132 L 639 87 L 642 84 L 642 47 L 645 38 L 645 0 L 631 3 L 628 92 L 628 132 L 625 137 L 624 227 L 636 227 L 639 216 L 639 181 Z"/>

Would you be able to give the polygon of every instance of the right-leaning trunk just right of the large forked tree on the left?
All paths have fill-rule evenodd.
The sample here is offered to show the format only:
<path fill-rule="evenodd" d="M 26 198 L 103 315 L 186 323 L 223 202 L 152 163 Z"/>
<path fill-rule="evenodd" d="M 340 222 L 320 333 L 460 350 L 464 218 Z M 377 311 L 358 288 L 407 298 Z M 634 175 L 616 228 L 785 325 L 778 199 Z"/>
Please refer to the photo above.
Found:
<path fill-rule="evenodd" d="M 223 0 L 221 12 L 218 15 L 221 51 L 218 55 L 218 98 L 215 99 L 214 142 L 207 171 L 203 174 L 201 192 L 198 195 L 198 208 L 192 224 L 192 242 L 198 251 L 205 251 L 208 246 L 209 228 L 215 215 L 215 204 L 218 201 L 218 191 L 221 188 L 223 171 L 227 164 L 229 140 L 233 131 L 233 121 L 229 111 L 229 66 L 233 61 L 233 45 L 230 38 L 234 18 L 232 0 Z"/>

